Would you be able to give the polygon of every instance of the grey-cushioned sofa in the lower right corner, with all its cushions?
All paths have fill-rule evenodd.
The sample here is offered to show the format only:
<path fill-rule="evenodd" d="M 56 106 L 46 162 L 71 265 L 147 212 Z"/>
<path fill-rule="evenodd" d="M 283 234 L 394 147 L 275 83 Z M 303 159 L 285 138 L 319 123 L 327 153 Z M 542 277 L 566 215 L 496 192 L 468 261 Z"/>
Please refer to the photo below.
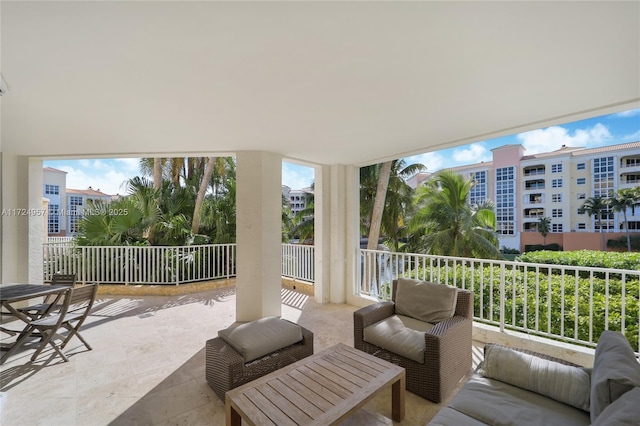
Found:
<path fill-rule="evenodd" d="M 593 368 L 487 344 L 485 360 L 429 425 L 639 425 L 640 364 L 605 331 Z"/>

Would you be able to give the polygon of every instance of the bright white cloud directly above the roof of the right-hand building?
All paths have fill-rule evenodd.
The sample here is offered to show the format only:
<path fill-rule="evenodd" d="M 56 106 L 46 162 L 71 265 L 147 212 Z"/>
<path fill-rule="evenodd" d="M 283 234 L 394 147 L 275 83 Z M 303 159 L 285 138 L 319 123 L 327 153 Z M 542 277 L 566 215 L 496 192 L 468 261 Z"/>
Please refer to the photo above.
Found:
<path fill-rule="evenodd" d="M 594 147 L 610 141 L 613 137 L 607 126 L 597 123 L 586 129 L 576 129 L 573 134 L 560 126 L 520 133 L 517 138 L 526 148 L 527 154 L 537 154 L 560 149 L 562 145 L 572 147 Z"/>

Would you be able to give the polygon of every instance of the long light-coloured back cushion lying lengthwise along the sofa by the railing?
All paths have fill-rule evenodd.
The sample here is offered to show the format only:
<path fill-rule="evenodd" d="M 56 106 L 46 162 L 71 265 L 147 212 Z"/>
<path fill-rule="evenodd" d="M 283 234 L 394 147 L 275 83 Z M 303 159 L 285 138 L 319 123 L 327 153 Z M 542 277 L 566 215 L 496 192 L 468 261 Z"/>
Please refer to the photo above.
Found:
<path fill-rule="evenodd" d="M 584 368 L 487 345 L 482 374 L 589 411 L 591 383 Z"/>

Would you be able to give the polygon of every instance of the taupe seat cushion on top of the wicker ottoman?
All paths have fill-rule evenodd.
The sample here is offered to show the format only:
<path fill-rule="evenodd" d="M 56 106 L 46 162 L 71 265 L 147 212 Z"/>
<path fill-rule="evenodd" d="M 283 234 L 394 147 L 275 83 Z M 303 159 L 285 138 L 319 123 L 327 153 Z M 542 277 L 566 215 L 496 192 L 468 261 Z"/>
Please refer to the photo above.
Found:
<path fill-rule="evenodd" d="M 244 362 L 250 362 L 301 341 L 302 329 L 277 317 L 265 317 L 233 324 L 218 331 L 218 336 L 241 354 Z"/>

